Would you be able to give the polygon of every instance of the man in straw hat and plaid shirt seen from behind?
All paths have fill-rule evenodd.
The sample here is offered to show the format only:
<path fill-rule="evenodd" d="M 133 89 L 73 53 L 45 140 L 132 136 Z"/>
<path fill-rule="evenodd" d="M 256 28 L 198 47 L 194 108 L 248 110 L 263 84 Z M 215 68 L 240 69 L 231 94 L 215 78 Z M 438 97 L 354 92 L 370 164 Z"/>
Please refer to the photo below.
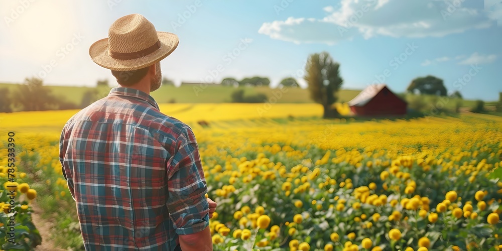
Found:
<path fill-rule="evenodd" d="M 212 250 L 216 203 L 189 126 L 159 111 L 160 60 L 178 46 L 138 14 L 91 45 L 119 87 L 65 124 L 59 158 L 86 250 Z"/>

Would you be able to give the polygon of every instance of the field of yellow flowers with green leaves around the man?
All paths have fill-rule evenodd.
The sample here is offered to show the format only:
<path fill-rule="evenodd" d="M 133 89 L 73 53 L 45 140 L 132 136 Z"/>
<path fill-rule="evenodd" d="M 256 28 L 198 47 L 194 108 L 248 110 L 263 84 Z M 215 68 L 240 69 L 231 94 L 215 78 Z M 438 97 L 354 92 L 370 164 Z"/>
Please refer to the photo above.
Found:
<path fill-rule="evenodd" d="M 315 104 L 161 110 L 197 137 L 208 196 L 218 203 L 209 224 L 215 250 L 502 249 L 500 117 L 327 120 L 313 117 L 322 114 Z M 58 160 L 59 132 L 75 112 L 0 113 L 0 189 L 12 185 L 13 131 L 16 217 L 29 225 L 32 203 L 64 202 L 52 207 L 66 217 L 58 225 L 64 248 L 81 245 Z M 35 232 L 26 234 L 26 245 L 37 243 Z"/>

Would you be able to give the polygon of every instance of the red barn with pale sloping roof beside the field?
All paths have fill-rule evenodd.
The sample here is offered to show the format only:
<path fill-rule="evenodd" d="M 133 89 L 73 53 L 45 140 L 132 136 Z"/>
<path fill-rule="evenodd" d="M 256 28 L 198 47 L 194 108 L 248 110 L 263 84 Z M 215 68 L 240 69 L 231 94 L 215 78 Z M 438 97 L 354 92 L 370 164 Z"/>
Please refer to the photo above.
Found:
<path fill-rule="evenodd" d="M 356 115 L 378 116 L 406 114 L 407 103 L 385 84 L 373 84 L 364 88 L 348 105 Z"/>

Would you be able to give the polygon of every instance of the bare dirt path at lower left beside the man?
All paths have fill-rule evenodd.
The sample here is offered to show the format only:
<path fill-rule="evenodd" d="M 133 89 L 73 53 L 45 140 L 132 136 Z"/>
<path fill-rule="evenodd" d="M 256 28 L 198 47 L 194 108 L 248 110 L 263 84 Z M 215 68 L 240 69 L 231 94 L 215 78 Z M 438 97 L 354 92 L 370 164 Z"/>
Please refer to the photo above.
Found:
<path fill-rule="evenodd" d="M 54 241 L 51 238 L 51 233 L 53 232 L 54 224 L 44 218 L 42 218 L 42 214 L 44 213 L 40 207 L 38 207 L 37 203 L 34 201 L 31 204 L 33 209 L 32 220 L 37 229 L 42 236 L 42 244 L 38 245 L 35 250 L 36 251 L 61 251 L 65 250 L 62 248 L 57 248 L 54 244 Z"/>

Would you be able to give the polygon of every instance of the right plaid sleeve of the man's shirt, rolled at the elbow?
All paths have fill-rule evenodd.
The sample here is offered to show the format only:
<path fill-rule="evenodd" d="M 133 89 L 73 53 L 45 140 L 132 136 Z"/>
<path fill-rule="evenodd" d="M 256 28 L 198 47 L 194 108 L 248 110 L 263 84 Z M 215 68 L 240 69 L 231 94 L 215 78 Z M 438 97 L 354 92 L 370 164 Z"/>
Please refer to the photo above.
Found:
<path fill-rule="evenodd" d="M 181 134 L 174 155 L 167 161 L 167 207 L 177 234 L 191 234 L 209 225 L 206 180 L 195 137 Z"/>

